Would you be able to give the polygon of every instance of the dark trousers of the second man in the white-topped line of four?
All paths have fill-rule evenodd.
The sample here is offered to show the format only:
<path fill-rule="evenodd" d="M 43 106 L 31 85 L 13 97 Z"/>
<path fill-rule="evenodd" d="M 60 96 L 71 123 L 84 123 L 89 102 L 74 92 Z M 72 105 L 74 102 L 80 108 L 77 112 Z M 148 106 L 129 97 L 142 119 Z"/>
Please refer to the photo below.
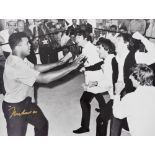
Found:
<path fill-rule="evenodd" d="M 113 101 L 110 100 L 98 115 L 96 119 L 96 136 L 107 135 L 108 121 L 112 117 L 112 105 Z"/>

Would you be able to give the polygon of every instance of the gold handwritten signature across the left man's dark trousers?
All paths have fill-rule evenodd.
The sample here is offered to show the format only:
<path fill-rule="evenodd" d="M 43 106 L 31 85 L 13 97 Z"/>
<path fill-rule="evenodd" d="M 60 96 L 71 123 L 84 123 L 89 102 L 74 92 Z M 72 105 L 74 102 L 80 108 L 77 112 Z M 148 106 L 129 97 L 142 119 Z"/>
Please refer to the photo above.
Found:
<path fill-rule="evenodd" d="M 20 117 L 20 116 L 25 116 L 25 115 L 31 115 L 31 114 L 34 115 L 34 114 L 37 114 L 38 113 L 35 110 L 26 111 L 25 109 L 22 112 L 17 112 L 15 107 L 11 107 L 9 109 L 9 111 L 11 111 L 10 118 L 16 117 L 16 116 L 19 116 Z"/>

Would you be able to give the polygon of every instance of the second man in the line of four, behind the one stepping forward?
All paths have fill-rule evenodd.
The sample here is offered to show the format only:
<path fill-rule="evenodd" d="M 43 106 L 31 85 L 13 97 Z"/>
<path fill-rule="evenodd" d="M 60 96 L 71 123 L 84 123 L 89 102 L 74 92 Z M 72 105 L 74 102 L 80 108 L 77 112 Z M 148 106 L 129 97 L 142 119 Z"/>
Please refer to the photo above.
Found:
<path fill-rule="evenodd" d="M 109 39 L 105 38 L 100 38 L 97 44 L 99 47 L 99 56 L 104 60 L 104 64 L 102 66 L 104 76 L 101 85 L 104 88 L 104 92 L 109 92 L 111 97 L 111 94 L 113 94 L 114 91 L 113 75 L 118 70 L 115 59 L 115 45 Z M 115 68 L 113 68 L 113 64 Z M 111 119 L 112 115 L 112 100 L 106 103 L 103 109 L 99 109 L 97 111 L 99 112 L 99 115 L 96 119 L 96 136 L 106 136 L 108 121 Z"/>

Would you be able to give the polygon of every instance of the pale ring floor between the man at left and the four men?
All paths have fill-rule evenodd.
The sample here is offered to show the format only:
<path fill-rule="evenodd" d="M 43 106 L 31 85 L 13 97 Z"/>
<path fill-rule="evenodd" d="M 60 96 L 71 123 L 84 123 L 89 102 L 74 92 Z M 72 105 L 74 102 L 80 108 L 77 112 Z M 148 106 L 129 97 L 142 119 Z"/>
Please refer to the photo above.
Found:
<path fill-rule="evenodd" d="M 77 136 L 72 133 L 72 130 L 80 127 L 81 108 L 79 100 L 83 92 L 81 87 L 83 80 L 82 74 L 76 76 L 71 74 L 48 86 L 39 88 L 38 104 L 49 120 L 50 136 Z M 0 103 L 2 103 L 2 95 L 0 96 Z M 97 101 L 93 99 L 91 105 L 90 132 L 81 134 L 81 136 L 95 136 Z M 0 122 L 0 135 L 7 135 L 2 108 L 0 108 Z M 34 135 L 33 126 L 28 126 L 27 135 Z M 128 136 L 129 134 L 122 131 L 122 135 Z"/>

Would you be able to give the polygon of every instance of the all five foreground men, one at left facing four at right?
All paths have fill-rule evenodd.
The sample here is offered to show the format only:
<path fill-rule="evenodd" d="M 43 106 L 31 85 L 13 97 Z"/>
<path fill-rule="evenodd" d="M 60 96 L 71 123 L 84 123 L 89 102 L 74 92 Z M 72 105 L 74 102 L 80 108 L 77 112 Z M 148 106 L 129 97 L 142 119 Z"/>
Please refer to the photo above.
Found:
<path fill-rule="evenodd" d="M 73 31 L 73 28 L 69 29 Z M 139 32 L 110 33 L 108 38 L 101 37 L 94 45 L 89 30 L 75 33 L 75 42 L 82 47 L 82 54 L 67 67 L 54 71 L 51 69 L 65 64 L 65 59 L 34 65 L 26 58 L 31 48 L 28 36 L 24 32 L 10 35 L 12 54 L 7 57 L 4 67 L 2 105 L 8 135 L 25 135 L 28 123 L 34 126 L 35 135 L 48 135 L 48 120 L 39 106 L 33 103 L 33 85 L 57 80 L 77 69 L 81 63 L 84 65 L 80 70 L 85 75 L 80 99 L 82 119 L 81 127 L 73 133 L 89 132 L 90 103 L 95 97 L 99 103 L 99 109 L 96 109 L 99 112 L 97 136 L 107 135 L 109 120 L 110 135 L 119 136 L 127 124 L 124 118 L 127 118 L 131 135 L 155 135 L 155 45 Z M 104 99 L 107 92 L 110 94 L 108 103 Z"/>

